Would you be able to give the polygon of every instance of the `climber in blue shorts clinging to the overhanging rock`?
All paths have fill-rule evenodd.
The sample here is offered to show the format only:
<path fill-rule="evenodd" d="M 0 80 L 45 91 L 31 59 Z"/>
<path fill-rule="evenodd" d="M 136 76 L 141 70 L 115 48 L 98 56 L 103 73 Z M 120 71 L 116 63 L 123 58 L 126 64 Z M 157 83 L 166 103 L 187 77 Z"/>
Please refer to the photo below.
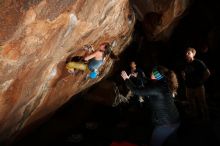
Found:
<path fill-rule="evenodd" d="M 92 50 L 92 47 L 85 46 L 85 49 L 90 51 Z M 99 46 L 99 49 L 85 57 L 73 57 L 70 62 L 67 62 L 66 68 L 71 74 L 74 74 L 75 70 L 88 71 L 88 77 L 91 79 L 95 79 L 98 76 L 98 69 L 104 63 L 105 57 L 110 53 L 110 44 L 107 42 L 102 43 Z"/>

